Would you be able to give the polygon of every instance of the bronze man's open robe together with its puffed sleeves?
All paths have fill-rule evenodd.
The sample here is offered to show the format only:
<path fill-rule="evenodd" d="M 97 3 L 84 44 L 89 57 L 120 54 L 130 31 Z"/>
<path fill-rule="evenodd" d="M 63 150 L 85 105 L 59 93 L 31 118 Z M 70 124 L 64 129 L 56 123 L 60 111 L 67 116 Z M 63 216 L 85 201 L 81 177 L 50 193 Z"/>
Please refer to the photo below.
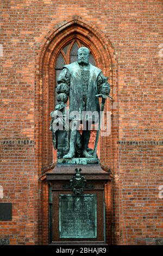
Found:
<path fill-rule="evenodd" d="M 65 65 L 58 77 L 57 93 L 66 93 L 69 95 L 70 115 L 72 111 L 78 111 L 78 120 L 82 120 L 83 111 L 99 112 L 99 100 L 96 94 L 100 94 L 102 85 L 106 84 L 106 78 L 102 74 L 102 71 L 91 64 L 89 64 L 89 78 L 85 81 L 87 89 L 83 85 L 83 75 L 78 62 Z M 110 86 L 108 84 L 108 94 L 109 92 Z"/>

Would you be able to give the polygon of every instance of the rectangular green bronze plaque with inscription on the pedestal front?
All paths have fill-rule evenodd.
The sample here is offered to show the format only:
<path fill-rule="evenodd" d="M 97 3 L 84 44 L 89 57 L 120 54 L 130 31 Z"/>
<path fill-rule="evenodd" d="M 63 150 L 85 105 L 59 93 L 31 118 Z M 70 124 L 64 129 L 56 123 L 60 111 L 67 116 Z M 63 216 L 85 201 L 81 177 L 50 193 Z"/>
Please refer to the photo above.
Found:
<path fill-rule="evenodd" d="M 96 194 L 59 196 L 60 238 L 97 237 Z"/>

